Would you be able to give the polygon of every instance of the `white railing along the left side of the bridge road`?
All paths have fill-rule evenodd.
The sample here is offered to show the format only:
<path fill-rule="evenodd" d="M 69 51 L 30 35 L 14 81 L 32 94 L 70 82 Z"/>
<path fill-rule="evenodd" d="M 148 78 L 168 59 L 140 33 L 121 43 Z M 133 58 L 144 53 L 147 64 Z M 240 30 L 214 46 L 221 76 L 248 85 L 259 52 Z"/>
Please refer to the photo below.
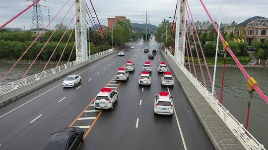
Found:
<path fill-rule="evenodd" d="M 111 52 L 111 51 L 113 51 L 113 49 L 108 49 L 106 51 L 102 51 L 102 52 L 99 52 L 99 53 L 90 55 L 90 56 L 88 56 L 88 60 L 94 59 L 96 57 L 99 57 L 99 56 L 101 56 L 103 54 L 106 54 L 108 52 Z M 64 64 L 64 65 L 58 66 L 56 68 L 49 69 L 47 71 L 44 71 L 42 73 L 38 73 L 38 74 L 35 74 L 35 75 L 27 76 L 27 77 L 22 78 L 22 79 L 19 79 L 17 81 L 10 82 L 10 83 L 7 83 L 5 85 L 2 85 L 2 86 L 0 86 L 0 96 L 1 95 L 4 95 L 6 93 L 12 92 L 12 91 L 14 91 L 16 89 L 22 88 L 22 87 L 24 87 L 26 85 L 29 85 L 31 83 L 34 83 L 36 81 L 39 81 L 41 79 L 44 79 L 44 78 L 46 78 L 48 76 L 55 75 L 57 73 L 60 73 L 62 71 L 65 71 L 68 68 L 71 68 L 73 66 L 76 66 L 76 65 L 78 65 L 80 63 L 82 63 L 82 62 L 72 61 L 70 63 L 67 63 L 67 64 Z"/>

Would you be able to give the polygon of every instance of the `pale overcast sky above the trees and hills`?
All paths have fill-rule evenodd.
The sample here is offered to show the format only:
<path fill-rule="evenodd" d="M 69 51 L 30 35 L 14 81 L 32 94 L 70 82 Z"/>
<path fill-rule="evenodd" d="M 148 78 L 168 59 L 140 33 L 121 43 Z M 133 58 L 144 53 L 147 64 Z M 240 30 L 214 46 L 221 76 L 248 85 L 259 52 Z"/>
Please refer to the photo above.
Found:
<path fill-rule="evenodd" d="M 67 0 L 46 1 L 41 2 L 42 5 L 46 6 L 41 8 L 45 26 L 48 24 L 48 7 L 50 7 L 52 18 Z M 52 24 L 52 27 L 61 21 L 61 18 L 65 15 L 72 2 L 73 0 L 70 0 L 67 3 L 64 11 L 55 18 L 55 23 Z M 89 0 L 86 0 L 86 2 L 90 4 Z M 176 0 L 92 0 L 92 2 L 103 25 L 107 25 L 107 18 L 113 18 L 115 16 L 126 16 L 131 19 L 132 23 L 143 23 L 142 21 L 144 19 L 142 18 L 144 17 L 145 10 L 147 10 L 147 13 L 150 15 L 150 23 L 158 26 L 164 18 L 169 19 L 170 22 L 173 21 L 173 19 L 168 17 L 173 17 L 176 6 Z M 220 0 L 203 0 L 203 2 L 213 19 L 218 21 Z M 232 21 L 241 23 L 253 16 L 268 17 L 268 0 L 222 0 L 222 3 L 222 22 L 224 23 L 230 23 Z M 30 1 L 27 0 L 0 0 L 0 25 L 29 4 Z M 189 0 L 189 4 L 195 21 L 208 20 L 200 0 Z M 91 6 L 90 9 L 92 10 Z M 73 15 L 74 7 L 71 8 L 71 11 L 64 20 L 64 24 L 68 24 Z M 29 29 L 31 22 L 32 9 L 29 9 L 6 27 L 22 29 L 25 27 Z"/>

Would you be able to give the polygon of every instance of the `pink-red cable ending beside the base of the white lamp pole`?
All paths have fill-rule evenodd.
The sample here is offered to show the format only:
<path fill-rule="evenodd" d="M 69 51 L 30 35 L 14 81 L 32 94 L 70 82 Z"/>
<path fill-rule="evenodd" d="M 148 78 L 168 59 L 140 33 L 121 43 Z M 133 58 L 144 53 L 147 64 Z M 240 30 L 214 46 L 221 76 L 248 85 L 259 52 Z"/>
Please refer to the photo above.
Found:
<path fill-rule="evenodd" d="M 210 75 L 210 72 L 209 72 L 207 63 L 206 63 L 206 59 L 205 59 L 205 56 L 204 56 L 204 52 L 203 52 L 203 48 L 202 48 L 202 45 L 201 45 L 201 41 L 200 41 L 200 38 L 199 38 L 199 35 L 198 35 L 198 32 L 197 32 L 197 27 L 196 27 L 196 24 L 195 24 L 195 20 L 194 20 L 194 18 L 193 18 L 191 9 L 190 9 L 190 7 L 189 7 L 188 0 L 185 0 L 185 1 L 186 1 L 186 3 L 187 3 L 186 7 L 188 7 L 188 9 L 189 9 L 189 12 L 190 12 L 190 15 L 191 15 L 191 18 L 192 18 L 192 21 L 193 21 L 193 25 L 194 25 L 194 29 L 195 29 L 195 32 L 196 32 L 196 36 L 197 36 L 197 38 L 198 38 L 199 46 L 200 46 L 201 53 L 202 53 L 202 56 L 203 56 L 203 59 L 204 59 L 204 64 L 205 64 L 205 67 L 206 67 L 206 71 L 207 71 L 207 74 L 208 74 L 208 77 L 209 77 L 209 80 L 210 80 L 210 84 L 211 84 L 211 86 L 212 86 L 213 81 L 212 81 L 212 78 L 211 78 L 211 75 Z M 187 9 L 187 8 L 186 8 L 186 9 Z M 217 94 L 216 94 L 216 90 L 214 90 L 214 95 L 215 95 L 215 98 L 218 99 L 218 96 L 217 96 Z"/>

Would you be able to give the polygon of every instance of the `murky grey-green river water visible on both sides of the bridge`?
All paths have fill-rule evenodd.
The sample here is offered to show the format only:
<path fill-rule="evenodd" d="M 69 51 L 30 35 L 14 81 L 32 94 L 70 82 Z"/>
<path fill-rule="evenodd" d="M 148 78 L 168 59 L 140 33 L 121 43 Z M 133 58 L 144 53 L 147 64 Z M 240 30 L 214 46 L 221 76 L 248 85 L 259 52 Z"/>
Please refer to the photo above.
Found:
<path fill-rule="evenodd" d="M 0 64 L 0 77 L 2 77 L 8 69 L 11 67 L 10 65 Z M 10 81 L 14 81 L 20 79 L 20 77 L 24 74 L 25 70 L 29 67 L 29 65 L 17 65 L 14 71 L 7 77 L 7 79 L 0 83 L 5 84 Z M 43 69 L 44 65 L 34 65 L 28 75 L 33 75 L 39 73 Z M 49 65 L 48 68 L 53 68 L 55 65 Z M 193 69 L 193 68 L 192 68 Z M 200 69 L 196 67 L 198 79 L 201 80 Z M 253 76 L 255 80 L 258 82 L 259 87 L 263 90 L 263 92 L 268 95 L 268 70 L 260 70 L 260 69 L 246 69 L 249 75 Z M 206 72 L 205 68 L 203 71 Z M 209 71 L 213 73 L 213 68 L 209 68 Z M 207 82 L 208 89 L 211 90 L 211 86 L 207 74 L 205 75 L 205 79 Z M 215 90 L 217 92 L 218 97 L 220 97 L 220 88 L 221 88 L 221 79 L 222 79 L 222 68 L 217 68 L 216 72 L 216 82 L 215 82 Z M 249 94 L 247 92 L 246 87 L 247 80 L 241 71 L 238 68 L 226 68 L 225 72 L 225 82 L 224 82 L 224 93 L 223 93 L 223 106 L 228 109 L 234 117 L 246 125 L 246 117 L 247 117 L 247 108 L 248 108 L 248 100 Z M 249 132 L 261 143 L 268 148 L 268 104 L 261 99 L 258 93 L 254 92 L 253 100 L 251 103 L 251 113 L 249 120 Z"/>

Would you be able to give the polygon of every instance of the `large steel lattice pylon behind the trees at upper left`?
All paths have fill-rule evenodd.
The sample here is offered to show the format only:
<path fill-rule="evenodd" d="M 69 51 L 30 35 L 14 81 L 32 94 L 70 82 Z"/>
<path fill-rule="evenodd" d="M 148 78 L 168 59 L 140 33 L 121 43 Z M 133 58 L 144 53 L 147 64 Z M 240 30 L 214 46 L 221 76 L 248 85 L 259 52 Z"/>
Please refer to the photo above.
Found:
<path fill-rule="evenodd" d="M 28 0 L 35 2 L 36 0 Z M 42 18 L 42 12 L 40 8 L 40 3 L 36 3 L 33 6 L 33 15 L 32 15 L 32 29 L 36 29 L 37 33 L 39 33 L 40 28 L 44 28 L 43 18 Z"/>

